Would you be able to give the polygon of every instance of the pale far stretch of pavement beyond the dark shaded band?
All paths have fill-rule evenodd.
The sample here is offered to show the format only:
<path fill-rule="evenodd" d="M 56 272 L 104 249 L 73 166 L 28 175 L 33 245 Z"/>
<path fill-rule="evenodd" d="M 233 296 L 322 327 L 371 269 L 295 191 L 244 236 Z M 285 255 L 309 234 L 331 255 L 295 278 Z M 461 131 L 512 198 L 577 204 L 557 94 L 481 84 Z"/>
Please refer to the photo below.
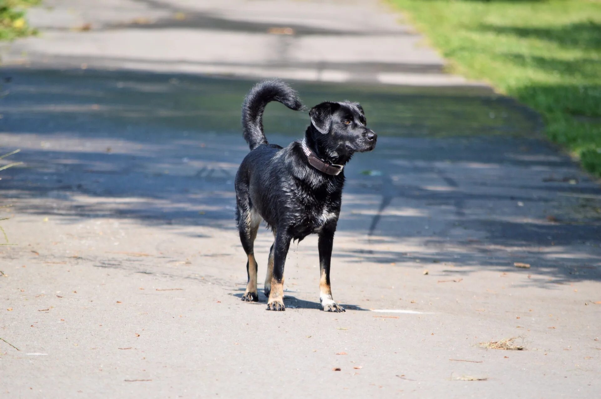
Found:
<path fill-rule="evenodd" d="M 475 84 L 373 1 L 47 0 L 4 62 L 405 85 Z"/>

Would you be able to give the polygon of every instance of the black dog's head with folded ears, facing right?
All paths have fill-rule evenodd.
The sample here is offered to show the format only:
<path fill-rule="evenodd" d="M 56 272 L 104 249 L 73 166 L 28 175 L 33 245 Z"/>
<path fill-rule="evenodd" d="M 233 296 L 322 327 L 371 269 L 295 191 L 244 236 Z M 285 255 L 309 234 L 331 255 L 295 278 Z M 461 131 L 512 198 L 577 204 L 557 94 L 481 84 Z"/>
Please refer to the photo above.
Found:
<path fill-rule="evenodd" d="M 350 159 L 353 153 L 371 151 L 377 135 L 368 129 L 359 103 L 324 102 L 309 111 L 312 138 L 328 157 Z"/>

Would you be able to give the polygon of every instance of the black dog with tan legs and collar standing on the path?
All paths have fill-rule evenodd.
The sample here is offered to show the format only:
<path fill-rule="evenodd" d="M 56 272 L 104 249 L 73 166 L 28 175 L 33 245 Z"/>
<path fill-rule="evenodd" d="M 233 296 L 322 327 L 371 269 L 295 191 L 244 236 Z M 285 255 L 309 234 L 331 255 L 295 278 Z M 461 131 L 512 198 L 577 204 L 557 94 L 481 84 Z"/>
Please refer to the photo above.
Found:
<path fill-rule="evenodd" d="M 257 262 L 253 243 L 261 219 L 272 228 L 275 242 L 269 252 L 265 278 L 267 310 L 284 310 L 284 262 L 290 240 L 319 234 L 320 301 L 329 312 L 344 308 L 332 299 L 330 258 L 340 215 L 344 165 L 356 152 L 371 151 L 376 133 L 365 126 L 358 103 L 324 102 L 314 106 L 305 138 L 288 147 L 268 144 L 263 111 L 278 101 L 295 111 L 303 109 L 296 91 L 284 82 L 255 85 L 242 106 L 242 127 L 251 152 L 236 174 L 236 220 L 248 261 L 248 285 L 242 300 L 258 300 Z"/>

